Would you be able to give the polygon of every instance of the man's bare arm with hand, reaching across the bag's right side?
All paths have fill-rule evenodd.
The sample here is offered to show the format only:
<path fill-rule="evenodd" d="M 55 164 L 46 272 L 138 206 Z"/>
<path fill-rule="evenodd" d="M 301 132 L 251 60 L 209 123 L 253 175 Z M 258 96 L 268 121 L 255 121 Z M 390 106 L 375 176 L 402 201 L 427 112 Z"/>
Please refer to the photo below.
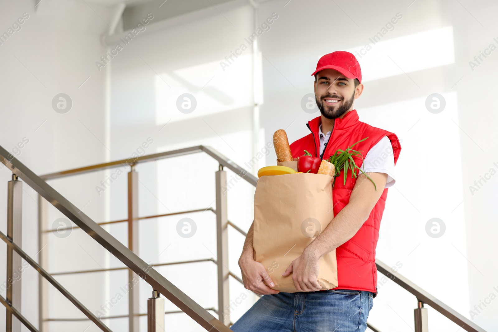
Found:
<path fill-rule="evenodd" d="M 287 276 L 292 273 L 292 280 L 298 291 L 312 292 L 322 289 L 317 281 L 318 259 L 352 238 L 369 218 L 382 195 L 387 174 L 376 172 L 367 174 L 375 182 L 377 190 L 375 191 L 373 183 L 363 173 L 359 175 L 348 205 L 282 274 Z"/>

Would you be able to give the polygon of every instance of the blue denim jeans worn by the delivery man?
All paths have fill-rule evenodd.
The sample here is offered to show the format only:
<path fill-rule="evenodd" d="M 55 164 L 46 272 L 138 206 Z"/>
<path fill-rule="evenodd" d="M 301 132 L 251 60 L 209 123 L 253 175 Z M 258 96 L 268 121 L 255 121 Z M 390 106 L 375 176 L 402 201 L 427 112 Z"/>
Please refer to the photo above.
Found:
<path fill-rule="evenodd" d="M 263 295 L 235 332 L 365 332 L 373 293 L 354 290 Z"/>

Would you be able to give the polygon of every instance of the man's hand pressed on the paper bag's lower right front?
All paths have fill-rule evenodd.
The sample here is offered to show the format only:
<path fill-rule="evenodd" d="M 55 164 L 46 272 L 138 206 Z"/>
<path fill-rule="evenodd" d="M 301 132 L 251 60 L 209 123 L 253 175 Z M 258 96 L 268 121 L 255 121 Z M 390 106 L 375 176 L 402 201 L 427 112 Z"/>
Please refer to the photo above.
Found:
<path fill-rule="evenodd" d="M 300 292 L 315 292 L 322 289 L 318 283 L 318 259 L 309 251 L 304 250 L 301 256 L 290 263 L 289 267 L 282 273 L 286 277 L 292 273 L 294 287 Z"/>

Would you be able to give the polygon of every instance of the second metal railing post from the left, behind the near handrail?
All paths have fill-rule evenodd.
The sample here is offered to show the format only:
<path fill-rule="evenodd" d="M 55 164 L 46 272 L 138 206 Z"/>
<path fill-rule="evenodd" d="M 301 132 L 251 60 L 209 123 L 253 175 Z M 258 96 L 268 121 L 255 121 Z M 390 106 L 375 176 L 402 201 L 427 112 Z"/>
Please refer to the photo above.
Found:
<path fill-rule="evenodd" d="M 38 264 L 48 270 L 48 202 L 38 194 Z M 36 257 L 34 257 L 36 258 Z M 38 274 L 38 321 L 40 332 L 48 332 L 48 281 Z"/>

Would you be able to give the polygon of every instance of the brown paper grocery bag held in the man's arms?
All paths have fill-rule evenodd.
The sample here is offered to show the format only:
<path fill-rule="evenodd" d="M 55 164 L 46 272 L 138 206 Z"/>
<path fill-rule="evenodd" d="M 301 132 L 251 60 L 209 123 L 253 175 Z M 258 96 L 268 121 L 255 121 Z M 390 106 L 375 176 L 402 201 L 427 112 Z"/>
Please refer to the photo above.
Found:
<path fill-rule="evenodd" d="M 297 292 L 282 273 L 332 221 L 332 180 L 324 174 L 262 176 L 254 193 L 254 259 L 281 292 Z M 337 287 L 336 251 L 319 259 L 318 283 Z"/>

